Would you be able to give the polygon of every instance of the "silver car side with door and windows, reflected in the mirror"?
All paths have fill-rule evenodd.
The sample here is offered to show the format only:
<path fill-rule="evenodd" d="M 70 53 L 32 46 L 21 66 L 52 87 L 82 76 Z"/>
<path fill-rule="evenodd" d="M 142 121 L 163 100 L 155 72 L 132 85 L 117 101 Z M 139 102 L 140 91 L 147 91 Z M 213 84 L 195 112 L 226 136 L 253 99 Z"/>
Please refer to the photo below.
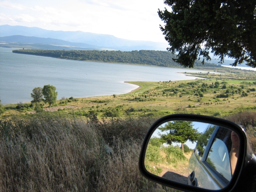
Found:
<path fill-rule="evenodd" d="M 188 184 L 212 190 L 228 185 L 232 178 L 231 132 L 213 125 L 206 128 L 189 160 Z"/>

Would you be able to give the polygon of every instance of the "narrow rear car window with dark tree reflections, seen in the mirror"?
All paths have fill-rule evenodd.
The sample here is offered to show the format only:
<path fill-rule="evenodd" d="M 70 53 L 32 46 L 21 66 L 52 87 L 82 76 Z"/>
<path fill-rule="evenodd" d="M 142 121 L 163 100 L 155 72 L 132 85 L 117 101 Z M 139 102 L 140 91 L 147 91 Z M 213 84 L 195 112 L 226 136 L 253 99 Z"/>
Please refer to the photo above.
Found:
<path fill-rule="evenodd" d="M 206 130 L 204 131 L 204 133 L 200 136 L 197 144 L 196 144 L 196 148 L 195 148 L 195 155 L 198 158 L 198 160 L 202 159 L 202 156 L 204 154 L 204 150 L 208 144 L 208 141 L 212 135 L 212 133 L 214 132 L 216 128 L 216 125 L 212 125 L 210 124 Z"/>

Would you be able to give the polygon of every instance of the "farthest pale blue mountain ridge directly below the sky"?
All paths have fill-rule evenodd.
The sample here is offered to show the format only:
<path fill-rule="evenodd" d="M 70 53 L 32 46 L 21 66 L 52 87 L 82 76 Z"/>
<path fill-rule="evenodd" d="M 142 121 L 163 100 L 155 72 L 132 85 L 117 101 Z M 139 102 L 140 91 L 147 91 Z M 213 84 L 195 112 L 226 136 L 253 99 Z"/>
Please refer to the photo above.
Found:
<path fill-rule="evenodd" d="M 14 35 L 53 38 L 68 42 L 79 42 L 100 46 L 113 50 L 166 50 L 168 47 L 167 43 L 126 40 L 107 34 L 96 34 L 82 31 L 53 31 L 41 29 L 38 27 L 25 26 L 0 26 L 0 37 Z"/>

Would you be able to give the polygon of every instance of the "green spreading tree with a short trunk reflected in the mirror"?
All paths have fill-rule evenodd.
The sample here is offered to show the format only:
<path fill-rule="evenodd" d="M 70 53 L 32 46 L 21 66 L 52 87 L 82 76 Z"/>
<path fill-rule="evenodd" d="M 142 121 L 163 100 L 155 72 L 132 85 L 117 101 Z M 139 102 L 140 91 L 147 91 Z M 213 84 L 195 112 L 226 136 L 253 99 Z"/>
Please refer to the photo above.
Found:
<path fill-rule="evenodd" d="M 184 143 L 190 140 L 192 143 L 196 142 L 201 135 L 197 129 L 193 129 L 192 121 L 171 121 L 164 127 L 159 128 L 163 131 L 170 131 L 168 134 L 160 134 L 160 137 L 166 141 L 167 144 L 172 142 L 180 142 L 181 148 L 184 151 Z"/>

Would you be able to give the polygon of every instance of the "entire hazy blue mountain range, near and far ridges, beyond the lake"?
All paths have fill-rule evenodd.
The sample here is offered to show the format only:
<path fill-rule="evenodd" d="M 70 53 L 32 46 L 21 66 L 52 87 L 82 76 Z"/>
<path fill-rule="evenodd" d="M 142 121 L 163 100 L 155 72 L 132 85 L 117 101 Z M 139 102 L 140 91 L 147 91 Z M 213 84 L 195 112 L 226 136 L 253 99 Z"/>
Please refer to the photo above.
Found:
<path fill-rule="evenodd" d="M 0 26 L 0 46 L 12 47 L 14 45 L 25 46 L 24 48 L 51 47 L 52 49 L 74 50 L 166 50 L 167 43 L 152 41 L 136 41 L 116 38 L 113 35 L 96 34 L 82 31 L 54 31 L 38 27 L 25 26 Z M 62 41 L 60 41 L 62 40 Z M 4 44 L 8 43 L 8 44 Z M 73 44 L 72 44 L 73 43 Z M 46 46 L 49 45 L 49 46 Z M 54 46 L 52 46 L 54 45 Z M 62 46 L 62 48 L 58 46 Z M 50 48 L 49 48 L 50 49 Z"/>

